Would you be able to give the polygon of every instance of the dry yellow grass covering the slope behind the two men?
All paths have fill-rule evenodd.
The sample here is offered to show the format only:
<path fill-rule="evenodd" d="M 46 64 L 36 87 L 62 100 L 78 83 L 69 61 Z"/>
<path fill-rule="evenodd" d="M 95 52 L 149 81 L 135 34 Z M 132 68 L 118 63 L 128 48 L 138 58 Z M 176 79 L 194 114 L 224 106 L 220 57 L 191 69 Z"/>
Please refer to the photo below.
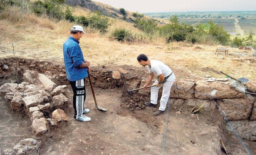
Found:
<path fill-rule="evenodd" d="M 83 11 L 83 10 L 82 10 Z M 85 12 L 85 11 L 84 11 Z M 22 14 L 18 9 L 5 12 L 0 20 L 0 57 L 12 57 L 14 44 L 15 56 L 35 58 L 63 64 L 62 45 L 69 36 L 73 23 L 67 21 L 56 22 L 47 18 L 39 18 L 33 14 Z M 175 69 L 189 72 L 192 75 L 214 78 L 224 78 L 218 71 L 223 71 L 234 78 L 245 77 L 256 80 L 256 58 L 251 57 L 251 51 L 244 52 L 229 48 L 229 53 L 247 53 L 247 56 L 220 54 L 215 56 L 218 46 L 193 45 L 188 43 L 171 43 L 167 45 L 161 38 L 153 42 L 119 43 L 111 41 L 108 35 L 115 28 L 125 27 L 131 32 L 140 34 L 133 24 L 123 20 L 111 19 L 112 26 L 107 34 L 101 34 L 93 29 L 86 29 L 87 34 L 80 40 L 81 49 L 91 66 L 134 65 L 141 53 L 150 59 L 161 60 Z M 12 31 L 10 31 L 12 30 Z M 200 46 L 201 49 L 194 49 Z M 186 77 L 180 77 L 186 78 Z"/>

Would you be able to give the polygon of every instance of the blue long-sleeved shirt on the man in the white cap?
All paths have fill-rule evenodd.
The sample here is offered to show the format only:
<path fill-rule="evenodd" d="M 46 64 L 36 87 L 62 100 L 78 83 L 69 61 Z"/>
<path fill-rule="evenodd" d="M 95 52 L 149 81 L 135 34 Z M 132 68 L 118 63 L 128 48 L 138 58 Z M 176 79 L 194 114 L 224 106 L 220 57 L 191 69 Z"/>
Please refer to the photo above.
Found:
<path fill-rule="evenodd" d="M 78 40 L 68 37 L 63 44 L 63 55 L 68 80 L 76 81 L 88 76 L 87 68 L 80 68 L 84 62 L 84 56 Z"/>

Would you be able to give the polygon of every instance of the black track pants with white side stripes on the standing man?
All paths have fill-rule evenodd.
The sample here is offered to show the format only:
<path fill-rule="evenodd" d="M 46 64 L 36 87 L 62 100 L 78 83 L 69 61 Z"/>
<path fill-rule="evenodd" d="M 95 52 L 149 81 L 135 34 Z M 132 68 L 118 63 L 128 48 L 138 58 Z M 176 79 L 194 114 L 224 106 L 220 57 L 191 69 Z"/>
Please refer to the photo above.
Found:
<path fill-rule="evenodd" d="M 84 80 L 70 81 L 71 87 L 73 89 L 73 107 L 75 109 L 74 118 L 80 118 L 84 111 L 84 101 L 85 101 L 85 85 Z"/>

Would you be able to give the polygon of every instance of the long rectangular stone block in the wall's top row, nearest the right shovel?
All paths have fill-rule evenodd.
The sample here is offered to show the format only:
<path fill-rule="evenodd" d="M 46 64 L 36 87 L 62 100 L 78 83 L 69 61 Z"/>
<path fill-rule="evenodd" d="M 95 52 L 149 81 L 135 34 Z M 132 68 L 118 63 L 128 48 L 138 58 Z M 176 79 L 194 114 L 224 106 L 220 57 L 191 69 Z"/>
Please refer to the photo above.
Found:
<path fill-rule="evenodd" d="M 245 88 L 238 81 L 215 81 L 207 82 L 199 80 L 195 86 L 195 98 L 244 98 Z"/>

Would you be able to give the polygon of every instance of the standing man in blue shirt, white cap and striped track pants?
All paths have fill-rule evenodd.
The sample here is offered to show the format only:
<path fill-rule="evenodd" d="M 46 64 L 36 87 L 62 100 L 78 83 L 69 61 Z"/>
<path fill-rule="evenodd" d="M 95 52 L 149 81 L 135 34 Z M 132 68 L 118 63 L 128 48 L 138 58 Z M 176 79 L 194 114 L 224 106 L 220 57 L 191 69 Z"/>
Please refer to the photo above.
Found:
<path fill-rule="evenodd" d="M 73 89 L 73 107 L 75 110 L 74 118 L 78 121 L 87 122 L 91 118 L 83 115 L 90 112 L 90 109 L 84 109 L 85 101 L 85 78 L 88 76 L 90 62 L 84 60 L 82 50 L 79 46 L 79 40 L 85 34 L 82 26 L 73 26 L 70 36 L 63 44 L 64 63 L 67 79 L 70 81 Z"/>

